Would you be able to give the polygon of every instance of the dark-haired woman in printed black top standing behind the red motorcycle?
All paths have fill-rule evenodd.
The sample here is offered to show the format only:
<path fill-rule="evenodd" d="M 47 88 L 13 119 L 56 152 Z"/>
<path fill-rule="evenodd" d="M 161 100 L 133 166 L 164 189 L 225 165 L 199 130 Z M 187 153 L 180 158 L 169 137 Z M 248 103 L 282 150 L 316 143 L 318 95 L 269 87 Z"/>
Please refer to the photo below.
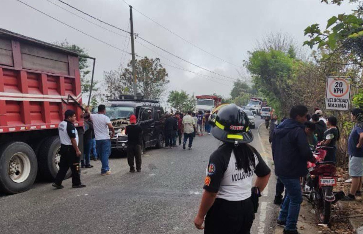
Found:
<path fill-rule="evenodd" d="M 322 145 L 333 147 L 328 148 L 324 161 L 337 163 L 337 141 L 340 139 L 340 131 L 337 126 L 338 120 L 335 116 L 330 116 L 327 119 L 326 125 L 328 129 L 324 132 L 324 140 Z"/>

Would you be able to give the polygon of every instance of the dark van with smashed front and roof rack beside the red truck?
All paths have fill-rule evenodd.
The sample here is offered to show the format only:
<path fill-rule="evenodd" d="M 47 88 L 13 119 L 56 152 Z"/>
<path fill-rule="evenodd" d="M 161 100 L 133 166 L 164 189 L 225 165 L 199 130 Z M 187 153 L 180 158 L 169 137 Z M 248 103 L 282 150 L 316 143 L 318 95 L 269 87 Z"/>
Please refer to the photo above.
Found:
<path fill-rule="evenodd" d="M 127 150 L 125 128 L 130 124 L 130 116 L 136 116 L 137 123 L 142 127 L 143 138 L 141 149 L 155 146 L 162 148 L 164 144 L 164 110 L 158 99 L 144 96 L 122 95 L 119 98 L 109 97 L 106 103 L 106 115 L 115 128 L 115 136 L 111 139 L 114 154 Z M 97 113 L 97 107 L 93 109 Z"/>

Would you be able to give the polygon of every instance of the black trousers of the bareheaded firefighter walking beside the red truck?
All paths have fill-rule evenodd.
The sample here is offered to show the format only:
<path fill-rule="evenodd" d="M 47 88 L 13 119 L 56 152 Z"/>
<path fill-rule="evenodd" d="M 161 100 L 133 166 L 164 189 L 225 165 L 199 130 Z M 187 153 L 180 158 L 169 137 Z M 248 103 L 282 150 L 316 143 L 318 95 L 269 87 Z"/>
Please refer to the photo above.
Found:
<path fill-rule="evenodd" d="M 59 162 L 59 171 L 57 173 L 54 183 L 61 185 L 68 169 L 72 171 L 72 185 L 80 185 L 81 177 L 79 171 L 79 157 L 77 157 L 76 150 L 73 146 L 61 145 L 61 159 Z"/>

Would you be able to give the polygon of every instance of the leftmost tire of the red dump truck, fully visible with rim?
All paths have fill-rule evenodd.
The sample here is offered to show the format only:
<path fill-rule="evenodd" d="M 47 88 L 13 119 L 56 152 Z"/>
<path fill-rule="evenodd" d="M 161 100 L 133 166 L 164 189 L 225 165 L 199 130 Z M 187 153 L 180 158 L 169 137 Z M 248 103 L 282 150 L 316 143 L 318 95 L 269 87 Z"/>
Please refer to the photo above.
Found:
<path fill-rule="evenodd" d="M 28 144 L 9 142 L 0 149 L 0 191 L 5 194 L 24 192 L 37 177 L 37 157 Z"/>

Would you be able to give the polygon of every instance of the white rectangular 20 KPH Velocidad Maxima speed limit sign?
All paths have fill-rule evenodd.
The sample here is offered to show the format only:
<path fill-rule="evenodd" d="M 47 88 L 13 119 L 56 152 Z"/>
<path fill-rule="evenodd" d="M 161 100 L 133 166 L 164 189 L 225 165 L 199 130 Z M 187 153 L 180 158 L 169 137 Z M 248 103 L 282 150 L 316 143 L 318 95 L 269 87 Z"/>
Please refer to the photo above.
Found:
<path fill-rule="evenodd" d="M 350 103 L 350 78 L 328 77 L 326 83 L 325 109 L 347 111 Z"/>

